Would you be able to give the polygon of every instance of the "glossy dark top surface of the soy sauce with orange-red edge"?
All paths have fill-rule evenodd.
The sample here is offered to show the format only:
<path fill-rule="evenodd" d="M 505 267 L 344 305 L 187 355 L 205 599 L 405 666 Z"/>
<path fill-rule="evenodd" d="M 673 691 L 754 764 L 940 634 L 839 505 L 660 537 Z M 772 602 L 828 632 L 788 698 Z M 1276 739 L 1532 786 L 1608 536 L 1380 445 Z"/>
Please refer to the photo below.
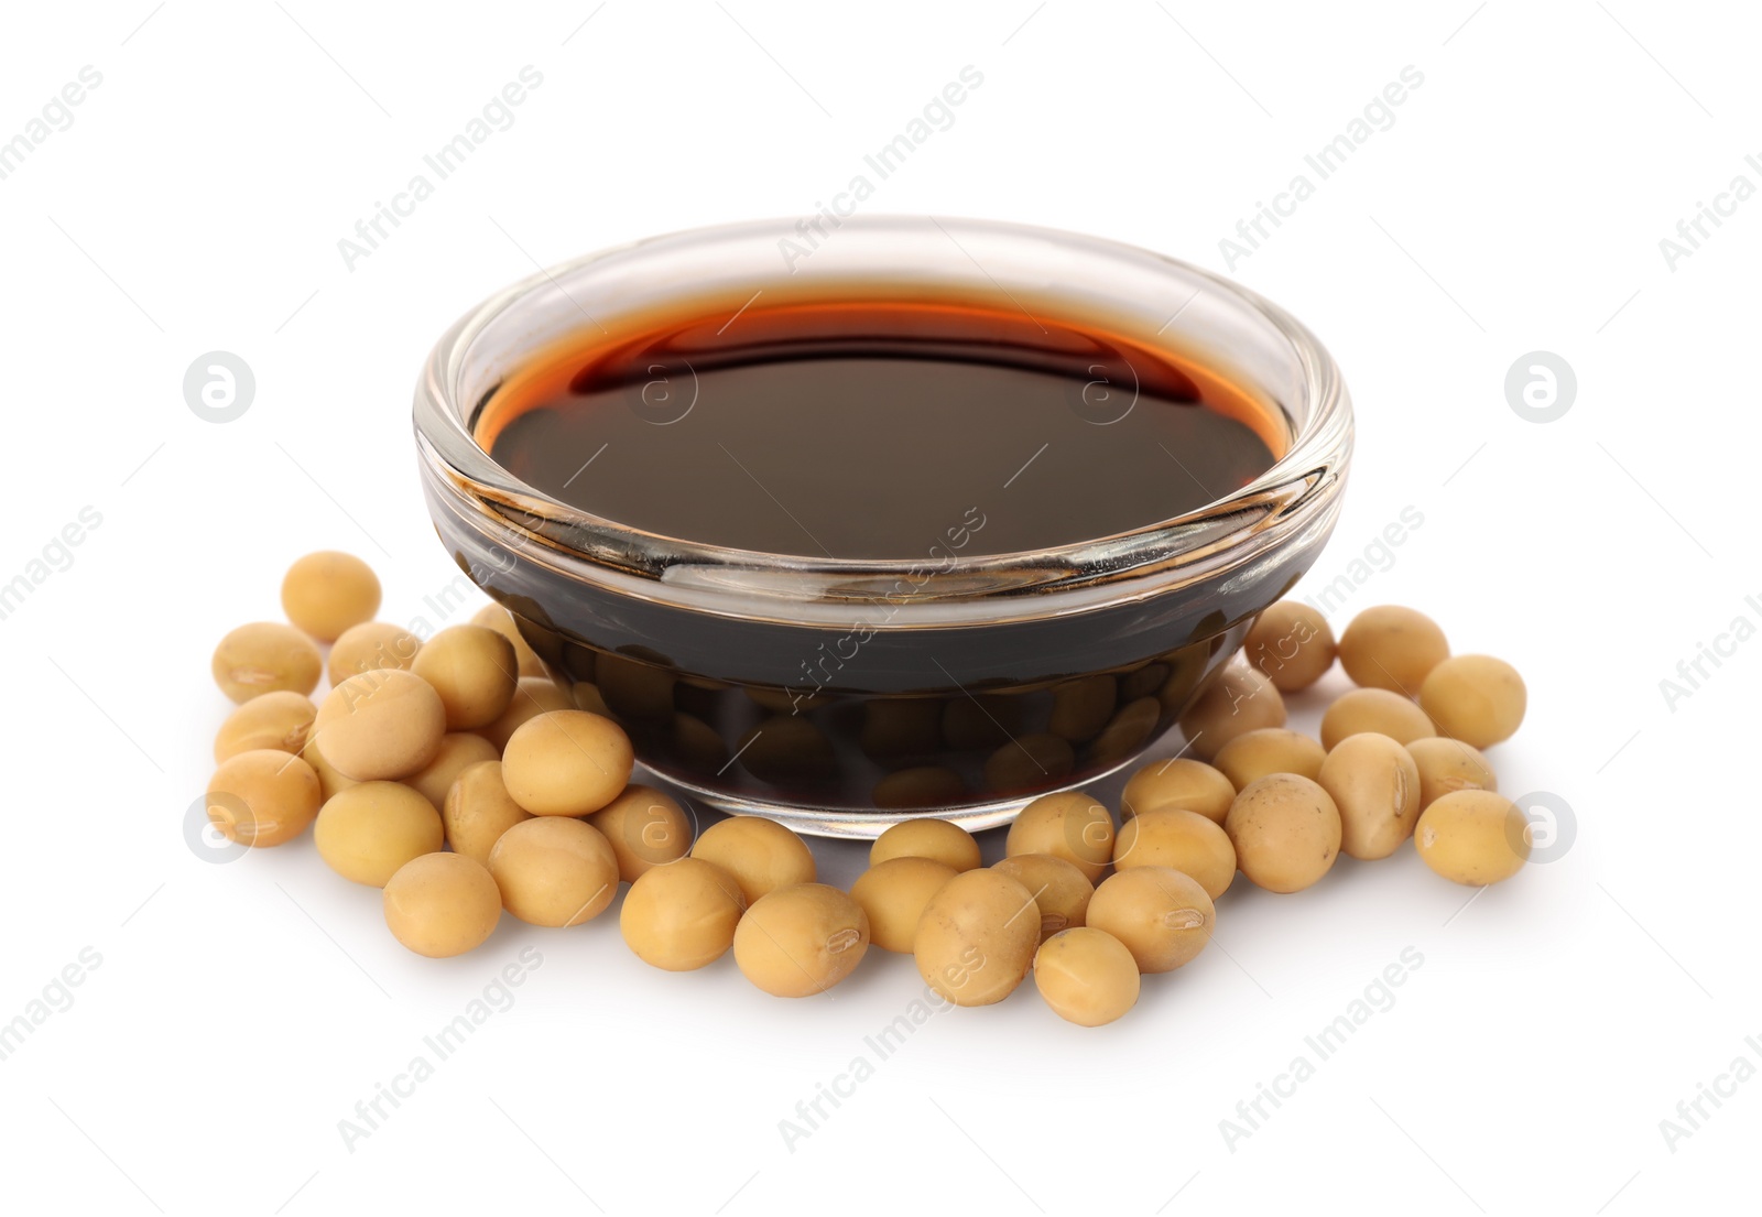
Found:
<path fill-rule="evenodd" d="M 1202 389 L 1200 384 L 1205 384 Z M 973 306 L 687 319 L 511 377 L 478 440 L 522 481 L 648 532 L 765 553 L 1033 551 L 1228 497 L 1276 426 L 1216 377 Z"/>

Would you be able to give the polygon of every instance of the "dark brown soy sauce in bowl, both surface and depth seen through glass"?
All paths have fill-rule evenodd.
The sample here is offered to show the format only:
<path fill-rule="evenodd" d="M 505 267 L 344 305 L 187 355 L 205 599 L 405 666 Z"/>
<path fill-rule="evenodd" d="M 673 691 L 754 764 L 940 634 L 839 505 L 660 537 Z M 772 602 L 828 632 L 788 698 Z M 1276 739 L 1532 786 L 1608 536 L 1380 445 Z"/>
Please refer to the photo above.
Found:
<path fill-rule="evenodd" d="M 589 328 L 485 400 L 478 442 L 622 525 L 925 571 L 1154 525 L 1286 447 L 1272 410 L 1223 377 L 1098 328 L 1008 305 L 749 303 Z M 1323 539 L 1200 594 L 902 631 L 657 604 L 509 562 L 437 520 L 576 703 L 622 722 L 650 768 L 717 798 L 828 810 L 959 808 L 1121 764 Z"/>

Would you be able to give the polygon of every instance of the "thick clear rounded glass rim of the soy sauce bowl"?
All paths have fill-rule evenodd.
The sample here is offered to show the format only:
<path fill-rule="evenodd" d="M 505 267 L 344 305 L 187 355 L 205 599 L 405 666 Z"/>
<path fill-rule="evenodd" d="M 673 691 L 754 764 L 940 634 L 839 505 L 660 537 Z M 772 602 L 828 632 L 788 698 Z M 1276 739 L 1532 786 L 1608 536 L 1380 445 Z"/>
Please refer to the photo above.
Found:
<path fill-rule="evenodd" d="M 1124 241 L 1061 229 L 923 215 L 855 215 L 842 224 L 885 232 L 930 218 L 974 238 L 1050 241 L 1064 252 L 1128 257 L 1214 291 L 1263 321 L 1288 345 L 1304 393 L 1286 453 L 1240 490 L 1170 520 L 1033 551 L 930 558 L 832 558 L 740 549 L 663 535 L 564 504 L 520 481 L 476 442 L 470 419 L 486 400 L 462 398 L 472 343 L 541 292 L 606 259 L 717 240 L 795 232 L 795 218 L 742 220 L 611 245 L 539 269 L 455 321 L 418 379 L 412 423 L 432 509 L 448 509 L 509 560 L 640 599 L 696 611 L 796 623 L 941 627 L 1087 611 L 1124 599 L 1226 578 L 1284 539 L 1332 527 L 1353 446 L 1351 402 L 1337 365 L 1293 315 L 1240 284 Z M 950 240 L 955 240 L 950 234 Z M 960 241 L 957 241 L 959 245 Z M 983 269 L 983 268 L 981 268 Z M 929 277 L 927 277 L 929 282 Z M 573 298 L 571 298 L 573 299 Z M 581 305 L 576 301 L 576 306 Z M 583 313 L 587 310 L 583 308 Z M 536 347 L 537 349 L 537 347 Z M 904 585 L 904 590 L 902 590 Z M 876 609 L 885 622 L 876 622 Z"/>

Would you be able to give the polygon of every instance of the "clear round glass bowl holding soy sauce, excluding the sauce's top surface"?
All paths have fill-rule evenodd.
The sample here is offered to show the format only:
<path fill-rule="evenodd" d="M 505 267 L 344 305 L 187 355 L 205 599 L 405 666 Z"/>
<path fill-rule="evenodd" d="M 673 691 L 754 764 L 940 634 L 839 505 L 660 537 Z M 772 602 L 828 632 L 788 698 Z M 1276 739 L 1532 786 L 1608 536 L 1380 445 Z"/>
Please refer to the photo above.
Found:
<path fill-rule="evenodd" d="M 645 532 L 522 483 L 474 439 L 539 352 L 670 303 L 735 317 L 932 296 L 1105 322 L 1210 370 L 1272 419 L 1277 461 L 1128 532 L 978 553 L 950 521 L 922 558 L 869 560 Z M 691 368 L 655 373 L 641 393 L 666 424 L 689 409 Z M 414 416 L 442 544 L 578 706 L 615 717 L 643 766 L 717 810 L 858 838 L 913 815 L 990 828 L 1129 764 L 1314 562 L 1351 456 L 1339 370 L 1276 305 L 1115 241 L 929 217 L 846 217 L 812 236 L 731 224 L 543 271 L 442 335 Z M 1085 493 L 1107 493 L 1107 470 Z"/>

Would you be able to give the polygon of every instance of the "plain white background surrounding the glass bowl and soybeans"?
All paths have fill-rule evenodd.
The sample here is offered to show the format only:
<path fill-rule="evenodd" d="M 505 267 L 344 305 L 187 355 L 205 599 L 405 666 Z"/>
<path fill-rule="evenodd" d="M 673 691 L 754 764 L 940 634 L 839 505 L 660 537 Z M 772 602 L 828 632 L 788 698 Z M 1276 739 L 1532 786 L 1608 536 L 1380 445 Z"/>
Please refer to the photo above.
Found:
<path fill-rule="evenodd" d="M 102 85 L 0 181 L 9 488 L 0 581 L 81 507 L 74 562 L 0 622 L 7 879 L 0 1020 L 100 965 L 0 1060 L 16 1212 L 1362 1212 L 1734 1206 L 1743 1083 L 1672 1148 L 1660 1120 L 1762 1032 L 1746 780 L 1762 643 L 1674 708 L 1679 660 L 1762 620 L 1750 537 L 1757 254 L 1748 201 L 1674 269 L 1677 220 L 1762 153 L 1737 5 L 638 5 L 321 0 L 11 5 L 0 139 L 83 65 Z M 493 14 L 493 16 L 492 16 Z M 585 25 L 583 25 L 585 21 Z M 782 1002 L 724 960 L 648 970 L 615 911 L 513 919 L 425 962 L 310 837 L 236 865 L 181 837 L 227 703 L 208 653 L 278 616 L 285 564 L 374 562 L 407 622 L 453 578 L 418 495 L 416 370 L 534 262 L 807 215 L 964 65 L 983 86 L 872 211 L 1114 236 L 1225 269 L 1219 238 L 1404 65 L 1424 86 L 1232 273 L 1311 324 L 1357 402 L 1318 574 L 1404 505 L 1424 527 L 1348 602 L 1433 611 L 1528 676 L 1503 789 L 1573 808 L 1558 861 L 1464 907 L 1411 851 L 1247 888 L 1216 948 L 1121 1023 L 1025 986 L 930 1020 L 818 1131 L 779 1120 L 920 993 L 872 953 Z M 523 65 L 543 86 L 368 259 L 338 238 Z M 255 372 L 236 423 L 185 368 Z M 1579 393 L 1519 417 L 1512 363 Z M 437 622 L 432 615 L 430 620 Z M 456 618 L 455 618 L 456 620 Z M 1293 710 L 1311 726 L 1336 673 Z M 1172 741 L 1161 745 L 1173 749 Z M 987 840 L 988 856 L 1001 842 Z M 848 882 L 860 851 L 825 849 Z M 361 1099 L 504 963 L 543 965 L 351 1152 Z M 1247 1140 L 1260 1083 L 1415 948 L 1424 965 Z"/>

